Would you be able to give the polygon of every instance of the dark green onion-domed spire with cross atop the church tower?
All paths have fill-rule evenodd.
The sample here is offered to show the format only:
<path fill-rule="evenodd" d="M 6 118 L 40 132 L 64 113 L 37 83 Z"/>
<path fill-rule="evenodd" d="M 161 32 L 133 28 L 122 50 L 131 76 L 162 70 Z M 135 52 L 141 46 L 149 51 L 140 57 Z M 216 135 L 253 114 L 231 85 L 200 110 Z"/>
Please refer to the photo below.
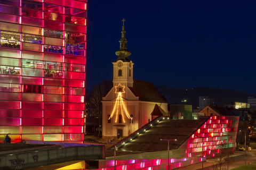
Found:
<path fill-rule="evenodd" d="M 129 50 L 127 50 L 127 40 L 125 38 L 125 30 L 124 30 L 124 19 L 123 21 L 123 28 L 122 28 L 122 37 L 120 39 L 120 48 L 119 50 L 116 51 L 116 55 L 118 56 L 117 60 L 115 62 L 117 62 L 118 60 L 122 60 L 123 62 L 130 62 L 129 56 L 131 55 L 131 52 Z"/>

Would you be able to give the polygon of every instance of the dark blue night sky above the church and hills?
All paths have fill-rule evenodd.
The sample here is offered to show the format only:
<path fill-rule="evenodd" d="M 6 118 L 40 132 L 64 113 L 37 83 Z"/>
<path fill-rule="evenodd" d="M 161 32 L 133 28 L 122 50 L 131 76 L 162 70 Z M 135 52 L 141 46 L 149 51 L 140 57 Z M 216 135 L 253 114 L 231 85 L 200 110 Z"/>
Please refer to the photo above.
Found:
<path fill-rule="evenodd" d="M 134 79 L 256 94 L 256 1 L 88 1 L 86 87 L 113 78 L 122 19 Z"/>

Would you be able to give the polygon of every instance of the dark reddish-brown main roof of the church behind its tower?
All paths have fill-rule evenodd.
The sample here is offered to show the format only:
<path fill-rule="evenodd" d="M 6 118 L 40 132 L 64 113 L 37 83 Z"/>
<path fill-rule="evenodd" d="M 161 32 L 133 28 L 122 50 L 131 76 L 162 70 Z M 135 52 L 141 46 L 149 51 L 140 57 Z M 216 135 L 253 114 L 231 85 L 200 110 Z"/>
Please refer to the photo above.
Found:
<path fill-rule="evenodd" d="M 141 101 L 168 103 L 168 101 L 159 93 L 152 82 L 133 79 L 133 87 L 129 88 L 136 97 L 139 97 L 139 100 Z"/>

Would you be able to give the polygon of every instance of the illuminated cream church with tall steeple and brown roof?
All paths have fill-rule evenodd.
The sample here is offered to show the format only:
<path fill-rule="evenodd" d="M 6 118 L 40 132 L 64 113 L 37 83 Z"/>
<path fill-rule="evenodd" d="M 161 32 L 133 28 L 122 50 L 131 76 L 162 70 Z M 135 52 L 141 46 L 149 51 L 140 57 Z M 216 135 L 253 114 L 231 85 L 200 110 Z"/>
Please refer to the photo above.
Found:
<path fill-rule="evenodd" d="M 113 62 L 113 88 L 102 98 L 102 137 L 124 138 L 159 115 L 167 116 L 167 100 L 153 83 L 134 80 L 133 65 L 122 28 L 118 56 Z"/>

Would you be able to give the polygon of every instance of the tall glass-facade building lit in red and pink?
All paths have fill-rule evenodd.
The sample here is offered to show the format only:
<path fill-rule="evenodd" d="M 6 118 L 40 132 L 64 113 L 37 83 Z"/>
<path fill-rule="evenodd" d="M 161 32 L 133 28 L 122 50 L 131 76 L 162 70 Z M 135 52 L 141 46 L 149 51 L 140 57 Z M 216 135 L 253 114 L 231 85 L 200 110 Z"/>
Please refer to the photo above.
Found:
<path fill-rule="evenodd" d="M 86 7 L 0 0 L 1 139 L 83 141 Z"/>

